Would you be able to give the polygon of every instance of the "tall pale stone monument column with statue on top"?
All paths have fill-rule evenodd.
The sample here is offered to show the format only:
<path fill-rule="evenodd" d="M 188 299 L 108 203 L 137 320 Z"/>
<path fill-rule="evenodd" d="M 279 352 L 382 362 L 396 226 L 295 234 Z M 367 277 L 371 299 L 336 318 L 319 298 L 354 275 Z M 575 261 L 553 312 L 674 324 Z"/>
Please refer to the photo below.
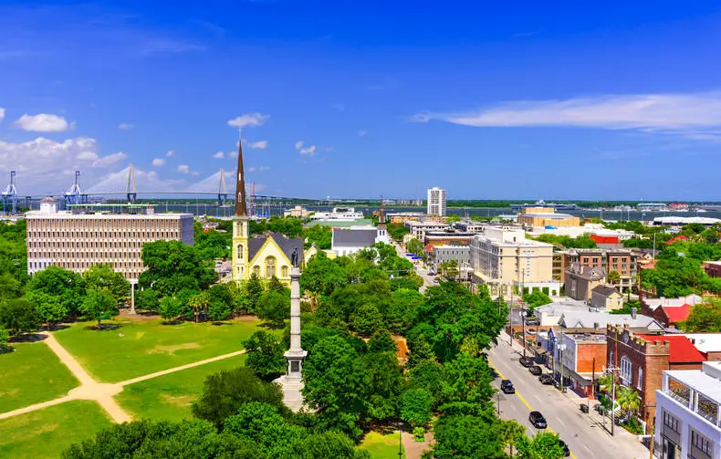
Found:
<path fill-rule="evenodd" d="M 278 378 L 277 384 L 283 389 L 283 402 L 294 412 L 303 408 L 303 360 L 307 350 L 300 347 L 300 269 L 297 254 L 294 253 L 290 269 L 290 349 L 286 351 L 286 374 Z"/>

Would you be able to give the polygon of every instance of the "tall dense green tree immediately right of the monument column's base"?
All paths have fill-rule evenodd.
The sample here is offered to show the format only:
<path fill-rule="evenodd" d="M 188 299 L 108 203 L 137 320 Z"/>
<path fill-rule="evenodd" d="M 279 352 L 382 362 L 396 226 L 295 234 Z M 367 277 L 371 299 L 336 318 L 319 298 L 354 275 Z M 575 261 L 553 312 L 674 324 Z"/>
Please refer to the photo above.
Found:
<path fill-rule="evenodd" d="M 356 422 L 364 410 L 364 375 L 358 354 L 340 336 L 320 339 L 303 366 L 303 398 L 326 425 L 360 434 Z"/>

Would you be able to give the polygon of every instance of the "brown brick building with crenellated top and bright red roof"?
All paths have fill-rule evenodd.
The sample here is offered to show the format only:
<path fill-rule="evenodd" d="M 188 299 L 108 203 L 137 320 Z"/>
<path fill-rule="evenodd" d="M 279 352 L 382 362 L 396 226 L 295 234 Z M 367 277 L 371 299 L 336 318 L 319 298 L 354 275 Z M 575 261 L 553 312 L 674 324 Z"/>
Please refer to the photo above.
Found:
<path fill-rule="evenodd" d="M 641 419 L 653 424 L 656 390 L 664 370 L 699 370 L 706 360 L 683 335 L 634 334 L 626 327 L 606 329 L 609 366 L 619 369 L 617 383 L 632 387 L 641 397 Z"/>

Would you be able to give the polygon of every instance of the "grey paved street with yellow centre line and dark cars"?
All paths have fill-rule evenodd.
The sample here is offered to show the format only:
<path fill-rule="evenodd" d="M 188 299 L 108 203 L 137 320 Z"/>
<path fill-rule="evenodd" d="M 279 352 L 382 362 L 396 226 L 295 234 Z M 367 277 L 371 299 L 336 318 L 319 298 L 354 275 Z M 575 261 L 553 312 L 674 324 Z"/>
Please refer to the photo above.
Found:
<path fill-rule="evenodd" d="M 502 379 L 513 382 L 516 394 L 500 393 L 501 418 L 516 419 L 527 426 L 528 433 L 538 429 L 528 422 L 528 413 L 532 410 L 542 412 L 552 432 L 559 433 L 560 439 L 569 444 L 571 457 L 576 459 L 642 459 L 648 457 L 648 450 L 636 440 L 636 437 L 616 428 L 616 436 L 604 430 L 598 422 L 601 418 L 580 412 L 579 403 L 585 398 L 569 391 L 560 393 L 553 386 L 542 385 L 538 377 L 518 363 L 519 354 L 508 345 L 508 335 L 501 333 L 502 342 L 489 352 L 489 360 L 500 377 L 496 379 L 496 388 Z M 592 404 L 591 404 L 592 410 Z"/>

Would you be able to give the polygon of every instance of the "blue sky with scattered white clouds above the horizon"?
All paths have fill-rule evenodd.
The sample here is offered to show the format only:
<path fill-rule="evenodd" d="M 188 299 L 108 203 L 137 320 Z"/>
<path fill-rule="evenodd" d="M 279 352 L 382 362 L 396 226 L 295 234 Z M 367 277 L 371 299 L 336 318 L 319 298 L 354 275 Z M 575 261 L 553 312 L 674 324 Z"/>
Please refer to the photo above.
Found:
<path fill-rule="evenodd" d="M 721 199 L 721 6 L 486 4 L 5 0 L 0 183 Z"/>

